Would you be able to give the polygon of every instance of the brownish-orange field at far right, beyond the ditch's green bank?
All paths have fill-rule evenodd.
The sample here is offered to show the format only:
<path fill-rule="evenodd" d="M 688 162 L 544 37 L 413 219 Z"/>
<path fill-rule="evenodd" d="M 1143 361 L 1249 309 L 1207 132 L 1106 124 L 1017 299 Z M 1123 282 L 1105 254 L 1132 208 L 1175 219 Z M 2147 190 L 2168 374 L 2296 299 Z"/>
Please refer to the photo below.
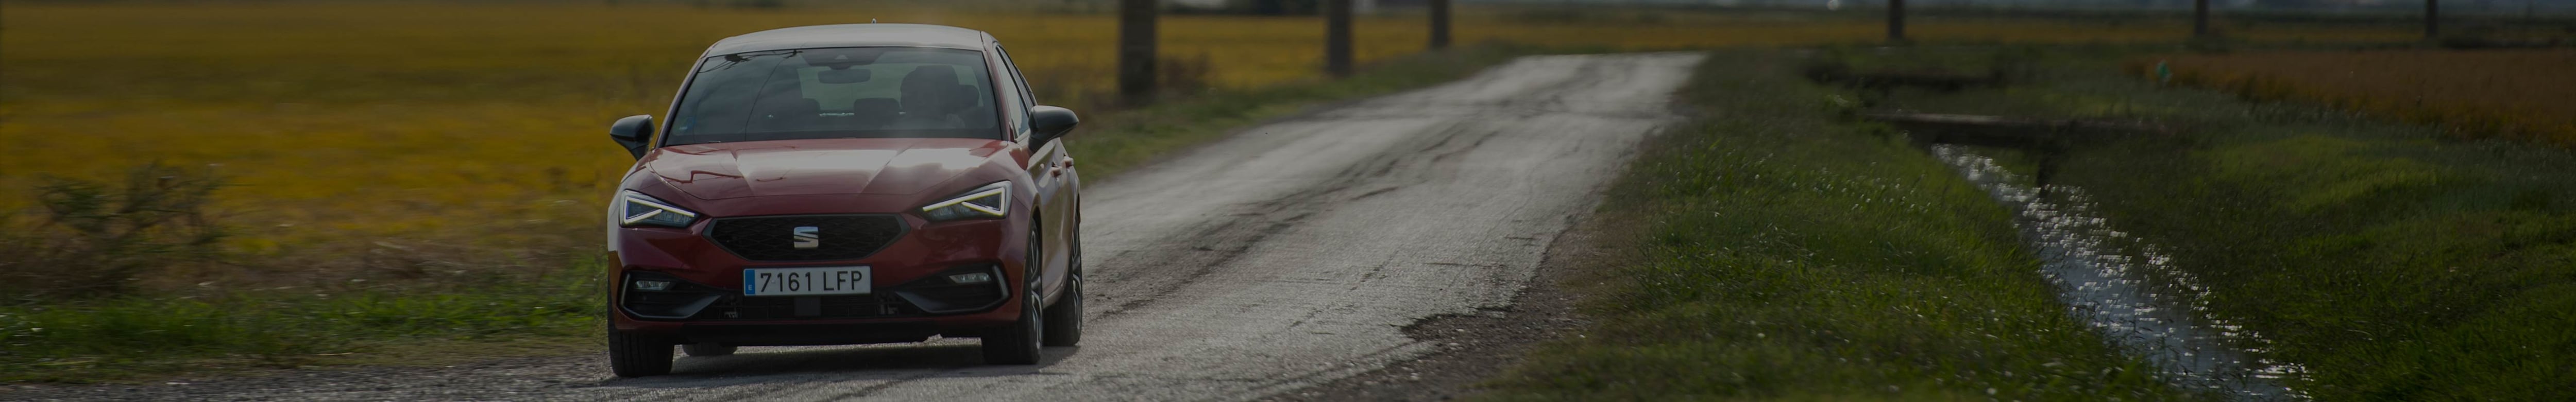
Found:
<path fill-rule="evenodd" d="M 2246 98 L 2576 147 L 2576 49 L 2195 54 L 2174 57 L 2172 70 L 2174 82 Z"/>

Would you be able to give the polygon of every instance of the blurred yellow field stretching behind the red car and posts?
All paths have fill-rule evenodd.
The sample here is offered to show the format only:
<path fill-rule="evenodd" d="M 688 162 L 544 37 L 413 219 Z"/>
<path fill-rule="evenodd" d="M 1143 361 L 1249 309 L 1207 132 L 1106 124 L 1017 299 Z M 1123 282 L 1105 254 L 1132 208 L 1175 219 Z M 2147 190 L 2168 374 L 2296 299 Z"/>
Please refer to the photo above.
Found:
<path fill-rule="evenodd" d="M 523 250 L 595 237 L 631 160 L 603 126 L 662 113 L 706 44 L 809 23 L 951 23 L 1012 46 L 1048 103 L 1113 82 L 1113 15 L 693 10 L 608 5 L 0 5 L 0 211 L 39 175 L 165 160 L 232 178 L 232 240 L 301 263 L 363 247 Z M 1520 18 L 1515 18 L 1520 15 Z M 1461 10 L 1458 41 L 1605 49 L 1868 44 L 1873 18 L 1628 13 L 1530 21 Z M 1311 80 L 1319 18 L 1167 15 L 1164 57 L 1218 88 Z M 2182 23 L 1919 21 L 1919 41 L 2174 41 Z M 2403 26 L 2239 31 L 2269 41 L 2406 39 Z M 1360 59 L 1417 52 L 1417 18 L 1363 18 Z M 327 253 L 296 253 L 327 250 Z"/>

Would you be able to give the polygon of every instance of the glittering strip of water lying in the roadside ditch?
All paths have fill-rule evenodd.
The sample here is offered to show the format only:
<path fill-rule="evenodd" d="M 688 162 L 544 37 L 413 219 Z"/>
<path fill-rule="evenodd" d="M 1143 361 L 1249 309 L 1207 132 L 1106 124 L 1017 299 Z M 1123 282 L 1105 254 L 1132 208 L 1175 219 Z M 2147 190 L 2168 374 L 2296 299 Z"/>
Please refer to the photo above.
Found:
<path fill-rule="evenodd" d="M 1976 149 L 1935 144 L 1932 155 L 2012 206 L 2014 227 L 2038 253 L 2043 276 L 2056 281 L 2069 314 L 2156 363 L 2166 381 L 2231 399 L 2306 399 L 2285 387 L 2300 366 L 2246 358 L 2269 340 L 2213 314 L 2205 286 L 2156 245 L 2107 227 L 2081 188 L 2045 186 L 2043 196 L 2025 175 Z"/>

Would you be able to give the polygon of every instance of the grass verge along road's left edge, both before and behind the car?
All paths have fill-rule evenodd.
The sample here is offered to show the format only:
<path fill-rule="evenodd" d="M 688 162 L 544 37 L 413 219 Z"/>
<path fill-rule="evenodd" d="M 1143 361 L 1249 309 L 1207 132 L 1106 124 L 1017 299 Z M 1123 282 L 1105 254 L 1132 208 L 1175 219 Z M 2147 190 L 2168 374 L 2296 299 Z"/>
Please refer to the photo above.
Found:
<path fill-rule="evenodd" d="M 1525 46 L 1468 46 L 1376 62 L 1347 80 L 1218 90 L 1092 119 L 1069 137 L 1084 173 L 1113 178 L 1234 126 L 1316 103 L 1450 82 Z M 417 363 L 456 350 L 587 353 L 605 309 L 598 263 L 515 283 L 407 289 L 247 289 L 222 296 L 113 296 L 0 304 L 0 381 L 121 381 L 211 368 Z M 216 294 L 216 291 L 201 291 Z M 474 345 L 474 348 L 464 348 Z M 513 345 L 577 345 L 518 350 Z M 469 353 L 479 358 L 487 353 Z"/>

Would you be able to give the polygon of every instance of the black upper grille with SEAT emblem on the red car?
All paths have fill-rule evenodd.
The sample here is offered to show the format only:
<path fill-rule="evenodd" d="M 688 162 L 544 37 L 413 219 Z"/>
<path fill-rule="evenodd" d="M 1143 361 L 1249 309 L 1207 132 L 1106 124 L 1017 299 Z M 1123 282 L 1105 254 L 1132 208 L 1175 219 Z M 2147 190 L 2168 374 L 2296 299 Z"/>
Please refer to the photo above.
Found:
<path fill-rule="evenodd" d="M 799 240 L 799 227 L 814 227 L 814 237 Z M 734 216 L 706 229 L 706 240 L 744 260 L 858 260 L 902 235 L 904 219 L 891 214 Z"/>

